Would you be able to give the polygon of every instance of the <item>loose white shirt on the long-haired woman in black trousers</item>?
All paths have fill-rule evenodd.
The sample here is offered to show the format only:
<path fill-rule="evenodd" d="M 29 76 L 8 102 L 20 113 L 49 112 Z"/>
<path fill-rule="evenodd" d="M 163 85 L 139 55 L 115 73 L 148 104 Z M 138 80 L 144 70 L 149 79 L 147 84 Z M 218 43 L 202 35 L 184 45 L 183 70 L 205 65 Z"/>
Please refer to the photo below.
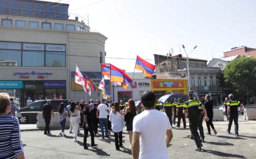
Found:
<path fill-rule="evenodd" d="M 120 113 L 113 113 L 113 110 L 109 113 L 109 121 L 112 122 L 112 130 L 114 133 L 119 133 L 120 131 L 123 131 L 123 128 L 125 127 L 124 118 Z"/>

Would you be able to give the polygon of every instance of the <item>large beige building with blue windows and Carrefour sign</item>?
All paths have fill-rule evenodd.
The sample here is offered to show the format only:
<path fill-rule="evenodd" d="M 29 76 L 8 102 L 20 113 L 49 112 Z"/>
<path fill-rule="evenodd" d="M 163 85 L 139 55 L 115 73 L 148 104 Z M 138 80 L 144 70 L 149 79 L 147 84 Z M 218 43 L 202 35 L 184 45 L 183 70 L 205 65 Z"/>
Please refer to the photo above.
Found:
<path fill-rule="evenodd" d="M 101 71 L 104 35 L 90 32 L 78 17 L 69 19 L 69 4 L 2 0 L 0 5 L 1 92 L 22 107 L 40 99 L 96 96 L 80 91 L 80 85 L 72 89 L 71 72 L 76 64 L 81 71 Z"/>

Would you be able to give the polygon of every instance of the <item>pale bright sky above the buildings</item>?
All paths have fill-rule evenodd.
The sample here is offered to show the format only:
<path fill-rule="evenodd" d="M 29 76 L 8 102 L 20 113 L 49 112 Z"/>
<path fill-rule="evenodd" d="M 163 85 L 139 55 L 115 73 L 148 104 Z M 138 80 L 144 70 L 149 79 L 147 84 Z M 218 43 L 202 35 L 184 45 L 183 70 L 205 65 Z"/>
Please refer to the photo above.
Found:
<path fill-rule="evenodd" d="M 57 1 L 57 0 L 56 0 Z M 154 54 L 210 61 L 232 47 L 256 48 L 255 0 L 61 0 L 108 39 L 106 63 L 133 72 L 136 56 Z M 135 72 L 141 72 L 135 70 Z"/>

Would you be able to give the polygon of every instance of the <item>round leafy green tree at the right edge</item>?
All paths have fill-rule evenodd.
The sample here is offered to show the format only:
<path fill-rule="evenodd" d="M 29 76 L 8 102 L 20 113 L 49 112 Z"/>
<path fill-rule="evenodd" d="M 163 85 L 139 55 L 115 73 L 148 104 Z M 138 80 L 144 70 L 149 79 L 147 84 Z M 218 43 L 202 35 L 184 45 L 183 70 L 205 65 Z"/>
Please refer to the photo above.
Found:
<path fill-rule="evenodd" d="M 256 91 L 256 58 L 242 57 L 230 61 L 224 69 L 224 81 L 230 83 L 236 94 L 244 97 Z"/>

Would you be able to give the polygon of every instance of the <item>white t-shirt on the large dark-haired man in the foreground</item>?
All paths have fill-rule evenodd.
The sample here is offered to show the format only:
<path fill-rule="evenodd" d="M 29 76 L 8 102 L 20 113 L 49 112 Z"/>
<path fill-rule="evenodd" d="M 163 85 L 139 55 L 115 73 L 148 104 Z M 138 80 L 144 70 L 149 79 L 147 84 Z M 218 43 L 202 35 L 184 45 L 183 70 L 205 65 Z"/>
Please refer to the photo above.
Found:
<path fill-rule="evenodd" d="M 135 116 L 133 132 L 140 132 L 139 158 L 169 158 L 165 136 L 171 128 L 166 113 L 158 110 L 144 110 Z"/>

